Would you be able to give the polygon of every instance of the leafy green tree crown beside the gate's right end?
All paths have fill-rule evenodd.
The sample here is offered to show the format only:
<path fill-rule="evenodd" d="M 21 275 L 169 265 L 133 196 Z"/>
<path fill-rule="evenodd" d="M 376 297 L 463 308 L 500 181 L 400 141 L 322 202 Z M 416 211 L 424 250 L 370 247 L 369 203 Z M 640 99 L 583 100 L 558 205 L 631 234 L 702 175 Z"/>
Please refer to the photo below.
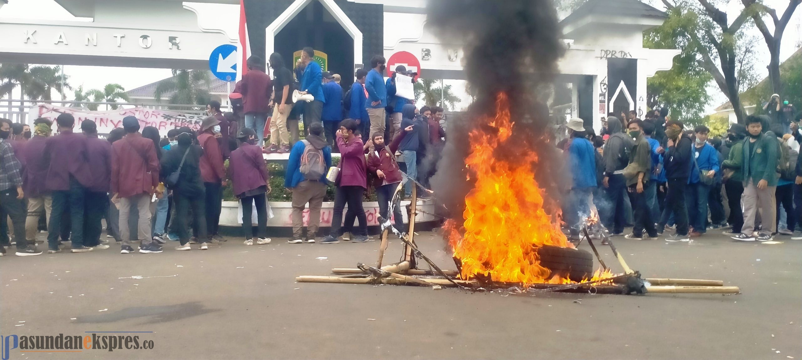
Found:
<path fill-rule="evenodd" d="M 646 105 L 650 109 L 667 107 L 671 118 L 690 123 L 703 117 L 711 101 L 707 84 L 713 77 L 697 61 L 689 31 L 698 22 L 698 15 L 681 7 L 668 10 L 662 26 L 643 34 L 643 47 L 650 49 L 681 49 L 674 57 L 670 70 L 658 71 L 647 80 Z"/>

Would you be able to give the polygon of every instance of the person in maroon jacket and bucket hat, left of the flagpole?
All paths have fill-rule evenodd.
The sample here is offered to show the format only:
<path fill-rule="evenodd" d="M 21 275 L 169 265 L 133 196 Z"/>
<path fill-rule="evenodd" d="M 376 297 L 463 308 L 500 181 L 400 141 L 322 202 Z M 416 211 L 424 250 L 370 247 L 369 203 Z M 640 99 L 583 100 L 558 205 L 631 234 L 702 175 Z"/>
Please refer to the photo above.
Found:
<path fill-rule="evenodd" d="M 201 122 L 201 132 L 198 134 L 198 144 L 203 148 L 201 156 L 201 178 L 206 190 L 206 236 L 207 243 L 217 245 L 222 238 L 217 234 L 217 224 L 220 222 L 220 211 L 223 204 L 222 186 L 225 177 L 223 166 L 223 153 L 217 138 L 214 137 L 214 126 L 220 120 L 209 116 Z M 204 239 L 199 239 L 203 241 Z"/>

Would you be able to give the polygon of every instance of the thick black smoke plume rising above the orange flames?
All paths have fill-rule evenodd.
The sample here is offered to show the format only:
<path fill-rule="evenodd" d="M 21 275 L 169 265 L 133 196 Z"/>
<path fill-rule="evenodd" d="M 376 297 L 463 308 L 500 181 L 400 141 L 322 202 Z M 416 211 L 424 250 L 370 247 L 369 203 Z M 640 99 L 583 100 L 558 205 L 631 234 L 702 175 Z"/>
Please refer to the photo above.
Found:
<path fill-rule="evenodd" d="M 468 92 L 474 98 L 468 115 L 449 119 L 448 142 L 431 178 L 437 198 L 461 224 L 464 198 L 472 188 L 466 179 L 468 133 L 487 126 L 496 113 L 496 97 L 508 95 L 511 141 L 494 150 L 496 158 L 515 161 L 525 149 L 537 150 L 537 181 L 559 197 L 558 162 L 545 95 L 564 54 L 561 28 L 551 0 L 433 0 L 427 25 L 445 43 L 462 44 Z"/>

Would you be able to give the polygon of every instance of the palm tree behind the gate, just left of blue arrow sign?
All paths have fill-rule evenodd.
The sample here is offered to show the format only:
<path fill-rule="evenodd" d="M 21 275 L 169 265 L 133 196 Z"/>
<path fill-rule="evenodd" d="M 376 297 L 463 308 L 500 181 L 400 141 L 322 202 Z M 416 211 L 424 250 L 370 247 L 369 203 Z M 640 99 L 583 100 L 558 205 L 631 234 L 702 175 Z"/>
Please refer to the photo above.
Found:
<path fill-rule="evenodd" d="M 209 71 L 172 70 L 172 78 L 164 79 L 156 86 L 154 94 L 156 102 L 169 96 L 171 104 L 197 104 L 205 106 L 209 103 L 209 86 L 212 78 Z"/>

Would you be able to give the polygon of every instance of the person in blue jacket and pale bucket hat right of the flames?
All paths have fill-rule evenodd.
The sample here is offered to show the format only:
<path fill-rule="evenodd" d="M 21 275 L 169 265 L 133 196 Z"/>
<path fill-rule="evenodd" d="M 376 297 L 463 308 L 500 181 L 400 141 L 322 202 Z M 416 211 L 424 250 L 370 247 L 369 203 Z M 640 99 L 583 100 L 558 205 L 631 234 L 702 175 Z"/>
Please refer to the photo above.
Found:
<path fill-rule="evenodd" d="M 569 240 L 579 241 L 581 224 L 590 215 L 590 194 L 596 187 L 596 150 L 585 138 L 585 122 L 581 118 L 572 118 L 566 126 L 571 137 L 568 161 L 573 182 L 565 222 L 570 226 Z"/>

